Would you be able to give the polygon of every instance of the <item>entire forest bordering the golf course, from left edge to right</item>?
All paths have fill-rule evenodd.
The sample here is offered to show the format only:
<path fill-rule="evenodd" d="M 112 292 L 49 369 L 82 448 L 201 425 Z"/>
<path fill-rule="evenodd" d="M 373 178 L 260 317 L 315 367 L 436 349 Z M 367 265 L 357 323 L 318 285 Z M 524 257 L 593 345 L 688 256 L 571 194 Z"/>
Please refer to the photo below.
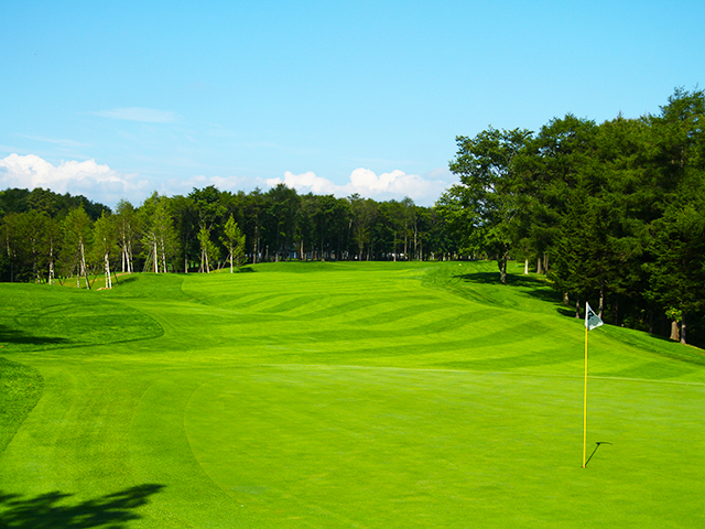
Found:
<path fill-rule="evenodd" d="M 458 183 L 410 198 L 194 188 L 115 210 L 48 190 L 0 192 L 0 280 L 116 271 L 209 272 L 247 262 L 496 259 L 545 277 L 581 317 L 705 343 L 705 94 L 676 88 L 654 115 L 566 115 L 538 132 L 456 138 Z"/>

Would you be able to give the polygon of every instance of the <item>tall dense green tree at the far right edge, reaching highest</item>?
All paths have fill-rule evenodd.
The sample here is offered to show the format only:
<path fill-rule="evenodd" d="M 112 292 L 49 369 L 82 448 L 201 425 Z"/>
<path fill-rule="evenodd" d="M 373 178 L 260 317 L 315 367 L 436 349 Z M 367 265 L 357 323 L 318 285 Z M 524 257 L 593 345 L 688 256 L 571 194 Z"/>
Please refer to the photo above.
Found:
<path fill-rule="evenodd" d="M 649 117 L 652 170 L 663 213 L 650 224 L 652 261 L 648 295 L 672 321 L 672 338 L 686 342 L 686 322 L 705 299 L 705 93 L 675 90 Z"/>

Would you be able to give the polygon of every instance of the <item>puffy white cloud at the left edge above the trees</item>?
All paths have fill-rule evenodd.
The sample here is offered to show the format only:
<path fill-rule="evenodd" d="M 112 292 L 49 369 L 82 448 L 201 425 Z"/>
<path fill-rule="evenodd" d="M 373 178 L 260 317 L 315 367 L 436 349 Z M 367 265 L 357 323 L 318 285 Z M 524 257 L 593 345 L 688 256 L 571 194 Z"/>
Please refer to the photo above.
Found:
<path fill-rule="evenodd" d="M 95 160 L 62 161 L 53 165 L 35 154 L 10 154 L 0 160 L 0 188 L 7 187 L 45 187 L 111 206 L 120 198 L 143 198 L 148 182 L 134 174 L 118 173 Z"/>

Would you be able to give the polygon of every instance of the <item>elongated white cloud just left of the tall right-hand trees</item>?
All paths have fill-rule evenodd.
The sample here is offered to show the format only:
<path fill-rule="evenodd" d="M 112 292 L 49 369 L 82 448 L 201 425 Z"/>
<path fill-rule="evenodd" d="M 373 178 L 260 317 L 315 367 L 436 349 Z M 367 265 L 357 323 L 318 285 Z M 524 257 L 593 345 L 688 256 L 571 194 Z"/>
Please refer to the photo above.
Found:
<path fill-rule="evenodd" d="M 293 174 L 286 171 L 284 180 L 269 179 L 265 183 L 270 187 L 284 184 L 304 194 L 332 194 L 338 197 L 349 196 L 354 193 L 380 201 L 401 199 L 409 196 L 416 204 L 427 206 L 432 205 L 448 186 L 448 182 L 443 180 L 425 179 L 417 174 L 406 174 L 400 170 L 377 175 L 373 171 L 364 168 L 352 171 L 345 185 L 338 185 L 330 180 L 316 176 L 312 171 L 303 174 Z"/>

